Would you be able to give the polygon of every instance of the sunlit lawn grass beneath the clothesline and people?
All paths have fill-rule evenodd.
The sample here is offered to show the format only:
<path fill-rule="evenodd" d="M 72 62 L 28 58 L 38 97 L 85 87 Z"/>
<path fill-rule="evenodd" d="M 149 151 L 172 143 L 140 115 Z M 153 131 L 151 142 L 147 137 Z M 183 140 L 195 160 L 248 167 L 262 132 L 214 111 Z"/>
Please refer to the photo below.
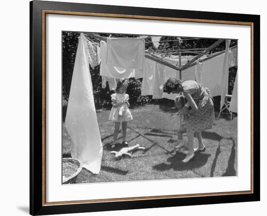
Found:
<path fill-rule="evenodd" d="M 160 180 L 237 175 L 237 117 L 228 116 L 215 121 L 212 129 L 202 132 L 206 151 L 184 164 L 186 147 L 175 150 L 176 130 L 180 117 L 176 110 L 164 105 L 145 105 L 131 108 L 134 121 L 128 124 L 129 146 L 140 144 L 146 150 L 135 151 L 134 158 L 116 160 L 110 153 L 114 123 L 108 121 L 108 109 L 97 110 L 103 144 L 101 170 L 98 175 L 82 169 L 76 183 L 128 180 Z M 119 133 L 121 143 L 121 131 Z M 187 141 L 186 134 L 184 140 Z M 70 157 L 71 138 L 63 123 L 63 157 Z M 197 139 L 194 140 L 197 147 Z M 117 145 L 115 150 L 122 146 Z"/>

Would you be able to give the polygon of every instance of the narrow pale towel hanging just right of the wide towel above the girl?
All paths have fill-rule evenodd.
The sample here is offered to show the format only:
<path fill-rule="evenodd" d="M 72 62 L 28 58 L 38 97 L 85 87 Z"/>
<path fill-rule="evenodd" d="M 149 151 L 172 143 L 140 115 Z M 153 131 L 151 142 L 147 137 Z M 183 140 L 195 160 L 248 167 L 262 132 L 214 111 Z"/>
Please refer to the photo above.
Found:
<path fill-rule="evenodd" d="M 144 64 L 144 74 L 143 74 L 142 90 L 141 90 L 142 95 L 153 95 L 155 68 L 156 68 L 156 62 L 150 60 L 149 58 L 146 58 Z"/>

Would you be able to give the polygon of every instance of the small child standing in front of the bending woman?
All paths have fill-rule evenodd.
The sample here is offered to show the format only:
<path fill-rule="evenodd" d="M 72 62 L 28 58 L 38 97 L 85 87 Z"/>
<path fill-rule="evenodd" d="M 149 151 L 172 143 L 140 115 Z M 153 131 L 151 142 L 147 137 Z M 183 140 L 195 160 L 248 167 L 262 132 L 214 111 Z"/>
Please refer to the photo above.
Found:
<path fill-rule="evenodd" d="M 181 127 L 177 130 L 178 135 L 178 145 L 175 146 L 176 149 L 180 149 L 184 146 L 183 133 L 186 133 L 184 125 L 189 118 L 188 108 L 185 106 L 185 97 L 184 95 L 178 95 L 174 100 L 175 106 L 178 109 L 178 115 L 182 118 Z"/>

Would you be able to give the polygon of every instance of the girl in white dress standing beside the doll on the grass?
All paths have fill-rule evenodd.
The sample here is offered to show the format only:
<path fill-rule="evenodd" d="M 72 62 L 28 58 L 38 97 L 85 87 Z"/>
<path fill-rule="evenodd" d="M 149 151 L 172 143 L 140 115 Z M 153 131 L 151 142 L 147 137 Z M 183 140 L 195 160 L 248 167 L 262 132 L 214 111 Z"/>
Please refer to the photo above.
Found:
<path fill-rule="evenodd" d="M 119 79 L 117 81 L 117 87 L 115 93 L 111 95 L 112 108 L 109 114 L 109 120 L 115 122 L 112 148 L 117 143 L 117 136 L 120 127 L 122 125 L 122 144 L 128 145 L 126 141 L 127 122 L 133 120 L 133 116 L 129 110 L 129 94 L 126 94 L 128 88 L 128 81 L 125 79 Z"/>

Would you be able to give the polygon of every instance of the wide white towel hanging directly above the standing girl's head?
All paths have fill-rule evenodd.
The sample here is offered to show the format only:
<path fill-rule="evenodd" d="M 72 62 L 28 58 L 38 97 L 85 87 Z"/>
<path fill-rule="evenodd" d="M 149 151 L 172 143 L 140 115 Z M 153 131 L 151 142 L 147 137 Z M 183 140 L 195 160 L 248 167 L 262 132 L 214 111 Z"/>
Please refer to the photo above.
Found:
<path fill-rule="evenodd" d="M 107 38 L 106 65 L 143 69 L 145 41 L 142 38 Z"/>

